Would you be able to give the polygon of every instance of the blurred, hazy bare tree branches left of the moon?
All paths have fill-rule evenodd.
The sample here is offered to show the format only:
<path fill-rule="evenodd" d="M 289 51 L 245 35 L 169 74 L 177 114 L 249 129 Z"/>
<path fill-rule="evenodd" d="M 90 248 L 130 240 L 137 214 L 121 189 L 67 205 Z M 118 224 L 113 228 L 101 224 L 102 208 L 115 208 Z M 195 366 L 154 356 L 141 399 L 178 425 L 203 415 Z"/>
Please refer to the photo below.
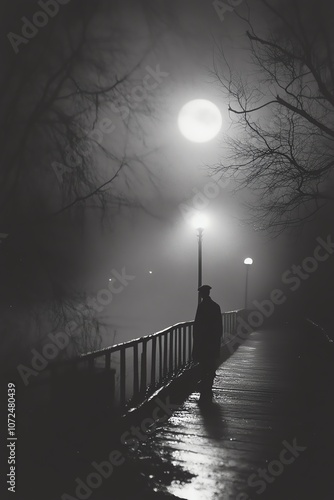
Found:
<path fill-rule="evenodd" d="M 152 2 L 136 8 L 146 31 L 135 45 L 136 23 L 120 1 L 2 6 L 0 295 L 7 354 L 31 344 L 36 308 L 49 328 L 61 329 L 77 316 L 78 303 L 86 315 L 74 350 L 99 345 L 87 292 L 73 284 L 85 264 L 87 214 L 110 222 L 122 205 L 141 206 L 131 194 L 138 177 L 154 182 L 128 140 L 144 136 L 140 118 L 152 115 L 163 80 L 147 59 L 162 29 Z M 24 327 L 13 322 L 17 314 L 29 318 Z"/>

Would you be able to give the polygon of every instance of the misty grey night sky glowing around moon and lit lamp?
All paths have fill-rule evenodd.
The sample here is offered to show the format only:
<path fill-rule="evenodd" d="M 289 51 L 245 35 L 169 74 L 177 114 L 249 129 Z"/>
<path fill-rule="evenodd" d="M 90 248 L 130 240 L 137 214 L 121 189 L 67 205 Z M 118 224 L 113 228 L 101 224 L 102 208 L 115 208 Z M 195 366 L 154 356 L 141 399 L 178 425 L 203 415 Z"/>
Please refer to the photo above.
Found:
<path fill-rule="evenodd" d="M 211 2 L 197 0 L 72 0 L 15 54 L 8 32 L 20 33 L 22 16 L 31 19 L 38 9 L 32 1 L 4 2 L 1 16 L 0 232 L 8 235 L 0 246 L 1 353 L 8 365 L 29 358 L 31 346 L 70 318 L 88 332 L 85 341 L 76 334 L 75 352 L 194 318 L 197 237 L 183 209 L 197 208 L 199 193 L 212 182 L 210 167 L 226 158 L 226 139 L 238 133 L 215 67 L 227 71 L 223 47 L 230 64 L 250 84 L 256 81 L 240 16 L 251 11 L 262 34 L 273 26 L 256 2 L 241 3 L 222 20 Z M 65 60 L 66 76 L 57 80 Z M 151 76 L 157 85 L 141 94 L 157 68 L 164 75 Z M 180 108 L 196 98 L 213 101 L 223 116 L 220 134 L 206 144 L 188 142 L 177 126 Z M 112 130 L 90 134 L 105 119 Z M 80 138 L 91 149 L 79 152 L 74 167 L 66 148 L 76 150 Z M 69 169 L 59 167 L 57 175 L 55 161 Z M 331 325 L 333 257 L 296 292 L 282 284 L 282 275 L 313 255 L 317 237 L 331 234 L 332 206 L 272 238 L 245 223 L 244 201 L 260 203 L 258 195 L 233 188 L 233 180 L 226 182 L 204 201 L 210 225 L 203 282 L 212 286 L 212 298 L 223 311 L 243 308 L 243 260 L 250 256 L 250 304 L 280 288 L 290 310 Z M 123 268 L 133 277 L 124 290 L 102 311 L 87 306 L 108 287 L 112 271 Z M 78 319 L 82 306 L 88 312 Z"/>

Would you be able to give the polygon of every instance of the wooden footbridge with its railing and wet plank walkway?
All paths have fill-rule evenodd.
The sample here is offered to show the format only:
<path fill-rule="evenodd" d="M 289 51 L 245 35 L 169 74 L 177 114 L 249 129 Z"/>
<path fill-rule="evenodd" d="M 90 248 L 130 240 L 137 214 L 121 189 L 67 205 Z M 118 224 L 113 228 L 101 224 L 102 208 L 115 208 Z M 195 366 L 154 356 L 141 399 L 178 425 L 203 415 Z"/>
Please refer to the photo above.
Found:
<path fill-rule="evenodd" d="M 19 498 L 332 499 L 333 342 L 247 317 L 223 313 L 209 404 L 193 322 L 51 363 L 19 391 Z"/>

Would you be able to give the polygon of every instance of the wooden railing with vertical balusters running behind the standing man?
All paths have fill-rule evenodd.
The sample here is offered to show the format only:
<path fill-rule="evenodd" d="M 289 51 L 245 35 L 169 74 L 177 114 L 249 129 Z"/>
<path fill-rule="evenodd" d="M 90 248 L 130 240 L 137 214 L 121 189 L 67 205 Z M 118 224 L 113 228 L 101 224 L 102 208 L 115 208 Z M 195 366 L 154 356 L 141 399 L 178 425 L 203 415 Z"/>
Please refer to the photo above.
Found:
<path fill-rule="evenodd" d="M 223 313 L 223 338 L 236 330 L 238 311 Z M 143 401 L 192 364 L 193 321 L 69 360 L 70 372 L 85 374 L 109 387 L 113 405 L 124 409 Z M 67 370 L 65 370 L 67 371 Z M 64 373 L 64 363 L 54 364 L 52 379 Z M 108 397 L 108 395 L 105 395 Z"/>

